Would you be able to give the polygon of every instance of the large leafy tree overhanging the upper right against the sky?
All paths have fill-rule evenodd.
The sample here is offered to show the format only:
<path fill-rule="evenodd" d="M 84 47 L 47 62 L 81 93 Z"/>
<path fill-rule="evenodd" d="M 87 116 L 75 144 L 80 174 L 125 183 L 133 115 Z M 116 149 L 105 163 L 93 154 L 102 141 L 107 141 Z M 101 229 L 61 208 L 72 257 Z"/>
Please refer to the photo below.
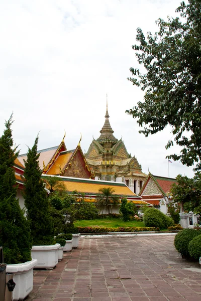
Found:
<path fill-rule="evenodd" d="M 170 155 L 173 160 L 201 169 L 201 2 L 189 0 L 181 3 L 176 12 L 179 18 L 168 21 L 158 19 L 159 31 L 145 38 L 137 29 L 134 45 L 139 64 L 146 72 L 130 68 L 133 85 L 145 91 L 144 102 L 126 112 L 141 127 L 140 133 L 148 136 L 172 127 L 176 144 L 182 147 L 180 154 Z M 173 145 L 169 140 L 166 148 Z"/>

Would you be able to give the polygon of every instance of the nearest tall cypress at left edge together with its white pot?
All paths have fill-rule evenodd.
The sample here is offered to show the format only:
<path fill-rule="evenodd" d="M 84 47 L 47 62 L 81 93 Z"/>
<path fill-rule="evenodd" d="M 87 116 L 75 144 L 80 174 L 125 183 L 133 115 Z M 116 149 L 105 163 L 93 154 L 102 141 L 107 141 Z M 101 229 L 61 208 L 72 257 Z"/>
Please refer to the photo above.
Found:
<path fill-rule="evenodd" d="M 37 260 L 31 258 L 29 222 L 16 198 L 18 186 L 14 162 L 19 152 L 16 152 L 16 147 L 13 148 L 12 123 L 11 115 L 0 137 L 0 245 L 4 250 L 6 271 L 14 273 L 16 287 L 13 299 L 19 300 L 33 289 L 33 268 Z"/>

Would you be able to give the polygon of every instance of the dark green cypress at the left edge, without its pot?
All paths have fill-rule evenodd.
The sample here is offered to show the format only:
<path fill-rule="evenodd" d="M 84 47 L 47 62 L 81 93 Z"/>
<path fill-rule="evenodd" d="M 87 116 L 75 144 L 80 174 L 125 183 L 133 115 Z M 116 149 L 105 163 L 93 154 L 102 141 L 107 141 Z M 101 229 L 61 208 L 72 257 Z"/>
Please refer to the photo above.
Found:
<path fill-rule="evenodd" d="M 16 199 L 14 164 L 19 152 L 13 148 L 12 117 L 13 114 L 5 122 L 6 129 L 0 137 L 0 245 L 7 264 L 31 260 L 32 247 L 29 222 Z"/>

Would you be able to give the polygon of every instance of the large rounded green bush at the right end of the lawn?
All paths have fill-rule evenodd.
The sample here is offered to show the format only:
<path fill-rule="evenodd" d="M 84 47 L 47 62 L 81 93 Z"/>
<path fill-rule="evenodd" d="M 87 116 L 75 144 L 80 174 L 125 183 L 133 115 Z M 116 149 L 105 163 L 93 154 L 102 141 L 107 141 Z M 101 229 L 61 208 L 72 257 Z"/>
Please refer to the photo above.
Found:
<path fill-rule="evenodd" d="M 146 227 L 158 227 L 160 229 L 167 229 L 174 225 L 174 221 L 160 210 L 149 208 L 144 213 L 144 223 Z"/>

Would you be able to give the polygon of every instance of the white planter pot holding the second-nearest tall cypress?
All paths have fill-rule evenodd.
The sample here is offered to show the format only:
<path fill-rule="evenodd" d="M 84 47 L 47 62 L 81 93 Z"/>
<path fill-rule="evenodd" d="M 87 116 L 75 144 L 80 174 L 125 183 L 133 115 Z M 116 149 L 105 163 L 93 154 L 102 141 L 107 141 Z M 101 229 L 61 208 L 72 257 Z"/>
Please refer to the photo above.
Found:
<path fill-rule="evenodd" d="M 38 260 L 35 268 L 53 269 L 58 263 L 60 247 L 59 243 L 49 246 L 32 246 L 32 258 Z"/>

